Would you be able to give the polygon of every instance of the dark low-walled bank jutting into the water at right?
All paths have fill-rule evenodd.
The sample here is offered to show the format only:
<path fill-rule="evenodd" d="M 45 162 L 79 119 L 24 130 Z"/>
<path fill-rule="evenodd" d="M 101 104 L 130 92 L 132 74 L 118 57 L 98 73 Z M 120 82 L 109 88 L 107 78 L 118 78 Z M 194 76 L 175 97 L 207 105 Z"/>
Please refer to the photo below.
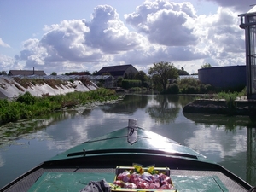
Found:
<path fill-rule="evenodd" d="M 227 102 L 224 99 L 195 99 L 183 108 L 183 113 L 255 115 L 256 100 L 247 100 L 245 97 L 234 102 Z"/>

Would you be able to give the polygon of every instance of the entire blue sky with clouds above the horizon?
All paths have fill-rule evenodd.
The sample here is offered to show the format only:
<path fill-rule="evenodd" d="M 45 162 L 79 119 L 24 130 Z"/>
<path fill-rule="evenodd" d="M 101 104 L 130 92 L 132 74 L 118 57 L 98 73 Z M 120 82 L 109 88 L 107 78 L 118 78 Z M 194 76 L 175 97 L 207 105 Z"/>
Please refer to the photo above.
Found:
<path fill-rule="evenodd" d="M 238 15 L 254 0 L 0 0 L 0 72 L 64 74 L 170 62 L 245 65 Z"/>

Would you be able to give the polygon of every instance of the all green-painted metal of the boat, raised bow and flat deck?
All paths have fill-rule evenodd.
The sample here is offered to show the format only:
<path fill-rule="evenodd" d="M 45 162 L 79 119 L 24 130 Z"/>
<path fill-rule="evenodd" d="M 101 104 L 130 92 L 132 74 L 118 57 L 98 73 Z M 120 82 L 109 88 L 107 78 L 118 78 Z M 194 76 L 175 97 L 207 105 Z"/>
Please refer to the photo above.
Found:
<path fill-rule="evenodd" d="M 77 162 L 76 160 L 84 160 L 86 157 L 96 156 L 96 159 L 101 159 L 101 155 L 116 155 L 116 159 L 121 157 L 123 154 L 150 154 L 155 156 L 160 156 L 160 162 L 162 162 L 162 156 L 173 157 L 175 160 L 179 161 L 185 159 L 184 161 L 188 164 L 191 164 L 192 161 L 195 161 L 199 165 L 207 163 L 207 166 L 211 167 L 212 165 L 217 165 L 216 163 L 208 160 L 205 156 L 195 152 L 191 148 L 187 148 L 172 139 L 162 137 L 152 131 L 146 131 L 142 128 L 137 128 L 136 136 L 137 139 L 135 143 L 128 140 L 128 134 L 131 133 L 131 130 L 128 132 L 128 128 L 125 127 L 118 131 L 113 131 L 102 137 L 96 137 L 90 141 L 82 143 L 74 148 L 71 148 L 61 154 L 56 155 L 51 160 L 49 164 L 58 165 L 60 161 L 65 162 L 64 166 L 69 166 L 66 160 L 69 162 Z M 132 136 L 133 137 L 133 136 Z M 132 138 L 133 139 L 133 138 Z M 164 152 L 164 153 L 163 153 Z M 119 155 L 119 156 L 118 156 Z M 102 156 L 104 157 L 104 156 Z M 127 157 L 127 156 L 126 156 Z M 130 156 L 129 156 L 130 157 Z M 144 158 L 144 156 L 143 156 Z M 111 158 L 110 158 L 111 159 Z M 154 158 L 153 158 L 154 159 Z M 169 158 L 167 158 L 169 160 Z M 170 158 L 172 159 L 172 158 Z M 136 159 L 135 159 L 136 160 Z M 55 161 L 56 163 L 53 163 Z M 85 160 L 84 160 L 85 161 Z M 154 161 L 154 160 L 152 160 Z M 103 162 L 103 161 L 102 161 Z M 101 162 L 101 163 L 102 163 Z M 151 161 L 150 161 L 151 162 Z M 202 162 L 202 164 L 201 164 Z M 91 166 L 89 164 L 89 166 Z M 100 165 L 99 165 L 100 166 Z M 108 165 L 106 165 L 108 166 Z M 121 170 L 122 165 L 117 165 L 116 174 Z M 98 167 L 97 167 L 98 168 Z M 163 169 L 166 169 L 162 167 Z M 193 168 L 193 167 L 189 167 Z M 124 169 L 124 167 L 122 168 Z M 125 168 L 126 169 L 126 168 Z M 168 168 L 169 170 L 169 168 Z M 170 173 L 170 174 L 169 174 Z M 176 175 L 172 172 L 169 172 L 174 185 L 173 190 L 170 191 L 209 191 L 209 192 L 218 192 L 218 191 L 228 191 L 224 186 L 224 183 L 215 175 L 204 174 L 202 176 L 191 176 L 191 175 Z M 45 191 L 80 191 L 90 181 L 100 181 L 105 179 L 108 183 L 113 183 L 115 179 L 115 174 L 111 171 L 106 172 L 44 172 L 44 174 L 38 178 L 37 182 L 34 183 L 29 190 L 29 192 L 45 192 Z M 113 189 L 115 191 L 115 189 Z M 124 189 L 121 192 L 138 192 L 146 191 L 144 189 Z M 150 191 L 157 191 L 150 189 Z M 116 192 L 119 192 L 116 190 Z"/>

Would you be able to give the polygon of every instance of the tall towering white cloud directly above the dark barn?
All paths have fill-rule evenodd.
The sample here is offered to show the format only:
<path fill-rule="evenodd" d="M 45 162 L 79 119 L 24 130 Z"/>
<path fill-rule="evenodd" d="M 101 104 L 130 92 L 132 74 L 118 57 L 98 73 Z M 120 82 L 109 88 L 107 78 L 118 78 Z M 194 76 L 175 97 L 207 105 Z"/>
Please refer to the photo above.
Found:
<path fill-rule="evenodd" d="M 135 49 L 141 44 L 140 38 L 143 38 L 137 32 L 129 32 L 123 21 L 119 20 L 116 9 L 108 5 L 97 6 L 86 26 L 90 32 L 85 34 L 85 44 L 105 53 L 117 54 Z"/>

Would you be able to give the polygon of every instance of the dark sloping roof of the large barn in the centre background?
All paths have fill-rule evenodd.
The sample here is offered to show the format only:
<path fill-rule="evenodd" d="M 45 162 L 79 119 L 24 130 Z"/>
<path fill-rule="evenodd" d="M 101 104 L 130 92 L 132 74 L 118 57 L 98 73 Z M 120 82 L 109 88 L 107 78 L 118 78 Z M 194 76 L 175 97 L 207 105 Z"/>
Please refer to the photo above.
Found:
<path fill-rule="evenodd" d="M 100 71 L 98 71 L 97 74 L 101 75 L 103 73 L 111 73 L 113 76 L 123 76 L 125 73 L 125 70 L 129 67 L 133 67 L 131 64 L 128 65 L 120 65 L 120 66 L 108 66 L 108 67 L 102 67 Z"/>

